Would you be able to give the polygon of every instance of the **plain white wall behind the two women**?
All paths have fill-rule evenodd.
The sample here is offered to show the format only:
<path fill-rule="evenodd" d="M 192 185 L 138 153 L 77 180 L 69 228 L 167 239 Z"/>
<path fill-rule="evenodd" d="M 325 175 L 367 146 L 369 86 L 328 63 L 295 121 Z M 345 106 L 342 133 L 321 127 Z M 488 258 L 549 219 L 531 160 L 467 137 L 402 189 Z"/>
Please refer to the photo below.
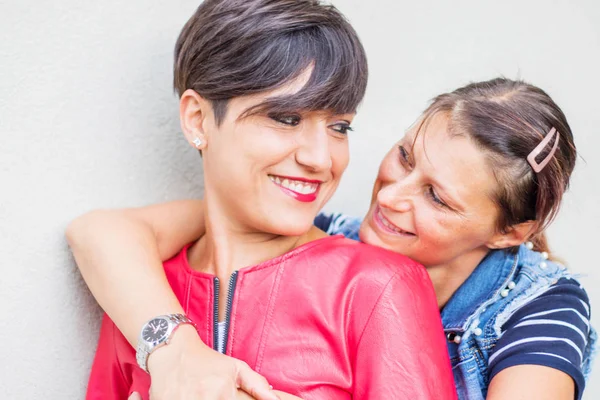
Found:
<path fill-rule="evenodd" d="M 100 314 L 65 245 L 67 222 L 92 208 L 202 192 L 170 87 L 172 47 L 197 4 L 0 1 L 2 399 L 83 398 Z M 600 5 L 335 4 L 363 39 L 371 78 L 351 165 L 328 208 L 366 210 L 379 159 L 432 96 L 523 77 L 555 98 L 575 132 L 582 159 L 551 243 L 600 307 Z M 591 381 L 588 400 L 600 398 L 600 367 Z"/>

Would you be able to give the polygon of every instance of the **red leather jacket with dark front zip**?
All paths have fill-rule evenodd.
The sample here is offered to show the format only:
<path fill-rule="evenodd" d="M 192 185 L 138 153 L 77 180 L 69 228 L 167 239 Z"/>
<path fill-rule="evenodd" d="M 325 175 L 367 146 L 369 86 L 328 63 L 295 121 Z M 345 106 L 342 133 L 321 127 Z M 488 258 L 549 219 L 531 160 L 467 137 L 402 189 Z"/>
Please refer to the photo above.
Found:
<path fill-rule="evenodd" d="M 187 247 L 165 262 L 200 338 L 215 347 L 215 278 Z M 221 284 L 225 295 L 226 284 Z M 425 269 L 341 236 L 239 270 L 226 354 L 303 399 L 456 399 L 433 287 Z M 148 399 L 150 377 L 104 317 L 87 399 Z"/>

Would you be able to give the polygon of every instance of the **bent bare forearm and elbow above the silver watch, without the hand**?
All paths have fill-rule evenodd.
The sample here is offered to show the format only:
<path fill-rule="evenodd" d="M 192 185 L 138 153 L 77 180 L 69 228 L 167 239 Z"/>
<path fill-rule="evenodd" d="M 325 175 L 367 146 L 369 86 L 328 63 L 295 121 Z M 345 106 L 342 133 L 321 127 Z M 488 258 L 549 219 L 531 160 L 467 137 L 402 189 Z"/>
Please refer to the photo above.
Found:
<path fill-rule="evenodd" d="M 204 231 L 201 201 L 97 210 L 75 219 L 67 241 L 98 304 L 132 346 L 146 321 L 183 313 L 162 261 Z"/>

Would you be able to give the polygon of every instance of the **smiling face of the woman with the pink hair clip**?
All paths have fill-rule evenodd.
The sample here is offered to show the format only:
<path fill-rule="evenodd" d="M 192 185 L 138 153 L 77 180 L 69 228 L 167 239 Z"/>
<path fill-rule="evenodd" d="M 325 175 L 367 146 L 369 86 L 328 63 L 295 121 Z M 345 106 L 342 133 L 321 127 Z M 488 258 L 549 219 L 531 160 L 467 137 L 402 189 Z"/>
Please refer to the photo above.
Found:
<path fill-rule="evenodd" d="M 451 136 L 444 115 L 434 116 L 417 136 L 411 129 L 385 156 L 360 229 L 361 239 L 426 267 L 472 265 L 485 255 L 499 210 L 490 194 L 496 180 L 485 155 L 466 136 Z M 399 146 L 410 162 L 405 162 Z M 448 206 L 436 203 L 431 194 Z M 374 222 L 377 207 L 413 236 L 393 235 Z M 476 264 L 475 264 L 476 265 Z"/>

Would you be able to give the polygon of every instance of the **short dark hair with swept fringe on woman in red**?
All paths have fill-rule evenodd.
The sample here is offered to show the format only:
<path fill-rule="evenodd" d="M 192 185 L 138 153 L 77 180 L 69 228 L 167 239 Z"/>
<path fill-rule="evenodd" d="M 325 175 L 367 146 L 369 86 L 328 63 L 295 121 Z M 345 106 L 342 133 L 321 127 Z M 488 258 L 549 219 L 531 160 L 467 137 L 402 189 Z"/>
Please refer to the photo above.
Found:
<path fill-rule="evenodd" d="M 318 0 L 205 0 L 175 47 L 174 86 L 212 103 L 220 123 L 227 102 L 276 89 L 308 68 L 292 95 L 269 99 L 252 112 L 353 113 L 367 85 L 365 51 L 352 26 Z"/>

